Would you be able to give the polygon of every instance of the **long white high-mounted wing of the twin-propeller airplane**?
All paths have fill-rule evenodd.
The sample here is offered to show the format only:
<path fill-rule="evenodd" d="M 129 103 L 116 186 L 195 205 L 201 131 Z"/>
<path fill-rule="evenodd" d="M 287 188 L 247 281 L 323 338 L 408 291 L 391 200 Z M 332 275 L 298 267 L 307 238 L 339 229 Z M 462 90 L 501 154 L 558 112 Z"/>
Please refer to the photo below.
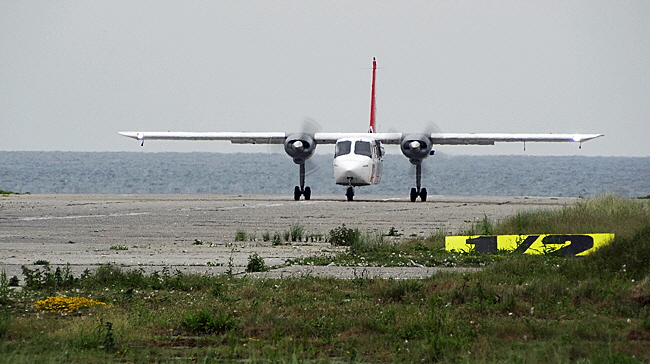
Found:
<path fill-rule="evenodd" d="M 284 132 L 120 132 L 137 140 L 223 140 L 235 144 L 283 144 L 290 135 Z M 403 133 L 315 133 L 317 144 L 335 144 L 341 138 L 373 138 L 385 144 L 400 144 Z M 585 142 L 603 134 L 480 134 L 432 133 L 434 145 L 494 145 L 497 142 Z"/>

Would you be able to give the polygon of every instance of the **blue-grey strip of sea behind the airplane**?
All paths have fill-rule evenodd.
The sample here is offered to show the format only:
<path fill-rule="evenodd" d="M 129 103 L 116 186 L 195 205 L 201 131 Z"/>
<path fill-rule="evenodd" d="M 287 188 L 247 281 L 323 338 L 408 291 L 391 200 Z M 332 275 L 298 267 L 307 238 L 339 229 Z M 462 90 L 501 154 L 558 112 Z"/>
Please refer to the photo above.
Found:
<path fill-rule="evenodd" d="M 285 154 L 208 152 L 0 151 L 0 190 L 74 194 L 286 194 L 298 166 Z M 334 184 L 332 156 L 307 164 L 312 193 L 344 194 Z M 650 195 L 650 157 L 436 154 L 423 163 L 429 195 L 620 197 Z M 415 167 L 384 157 L 381 183 L 357 194 L 408 195 Z"/>

